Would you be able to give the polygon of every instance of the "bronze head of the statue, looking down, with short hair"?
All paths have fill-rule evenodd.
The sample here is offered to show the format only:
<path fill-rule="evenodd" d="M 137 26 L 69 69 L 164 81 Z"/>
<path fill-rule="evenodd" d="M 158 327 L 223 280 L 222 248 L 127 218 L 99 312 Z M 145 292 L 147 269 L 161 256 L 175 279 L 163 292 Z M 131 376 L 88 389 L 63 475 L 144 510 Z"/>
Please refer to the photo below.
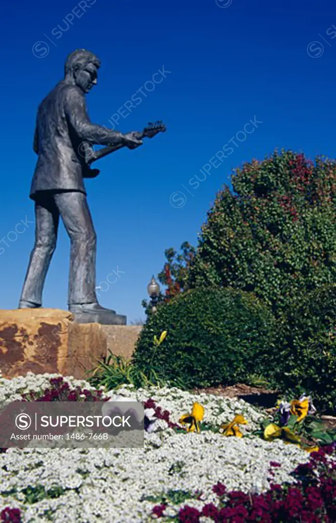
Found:
<path fill-rule="evenodd" d="M 97 56 L 85 49 L 76 49 L 65 62 L 64 74 L 66 79 L 71 79 L 84 93 L 97 83 L 97 70 L 100 60 Z"/>

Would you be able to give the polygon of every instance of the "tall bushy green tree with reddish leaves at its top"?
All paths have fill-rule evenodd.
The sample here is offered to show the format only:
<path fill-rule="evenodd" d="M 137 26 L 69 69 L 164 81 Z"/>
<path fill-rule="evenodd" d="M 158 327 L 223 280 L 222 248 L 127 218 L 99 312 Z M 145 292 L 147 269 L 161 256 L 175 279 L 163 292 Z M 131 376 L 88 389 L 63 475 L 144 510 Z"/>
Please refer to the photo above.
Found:
<path fill-rule="evenodd" d="M 275 152 L 232 177 L 201 229 L 189 288 L 253 292 L 276 317 L 336 281 L 336 163 Z"/>

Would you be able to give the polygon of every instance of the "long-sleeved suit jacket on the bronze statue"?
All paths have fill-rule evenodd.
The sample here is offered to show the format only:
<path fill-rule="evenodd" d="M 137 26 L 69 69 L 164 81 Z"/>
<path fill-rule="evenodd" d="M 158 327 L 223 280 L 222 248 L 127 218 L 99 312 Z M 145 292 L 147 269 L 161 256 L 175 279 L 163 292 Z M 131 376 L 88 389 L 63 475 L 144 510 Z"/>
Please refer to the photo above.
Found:
<path fill-rule="evenodd" d="M 86 194 L 83 143 L 113 143 L 120 140 L 120 134 L 91 123 L 80 87 L 61 81 L 38 108 L 33 143 L 38 161 L 30 198 L 35 199 L 38 191 L 45 190 L 73 190 Z"/>

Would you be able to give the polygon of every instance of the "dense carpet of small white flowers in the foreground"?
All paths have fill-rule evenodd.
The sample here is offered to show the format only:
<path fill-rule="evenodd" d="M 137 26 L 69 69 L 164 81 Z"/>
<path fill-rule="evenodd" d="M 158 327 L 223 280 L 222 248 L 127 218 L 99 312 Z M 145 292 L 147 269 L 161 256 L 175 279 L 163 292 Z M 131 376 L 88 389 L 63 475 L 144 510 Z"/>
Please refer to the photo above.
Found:
<path fill-rule="evenodd" d="M 46 389 L 51 394 L 50 379 L 55 378 L 28 374 L 26 378 L 0 379 L 0 401 L 22 400 L 23 394 L 27 399 L 30 391 L 35 391 L 36 397 Z M 83 381 L 64 380 L 69 384 L 66 394 L 77 390 L 80 401 L 93 397 L 101 401 L 114 395 L 113 391 L 97 393 Z M 63 385 L 59 381 L 58 389 Z M 205 505 L 219 506 L 218 492 L 213 489 L 218 482 L 226 486 L 226 492 L 256 496 L 270 489 L 271 483 L 293 483 L 290 473 L 309 460 L 309 454 L 295 445 L 281 440 L 270 443 L 251 435 L 264 415 L 242 400 L 178 389 L 134 390 L 130 386 L 119 389 L 118 394 L 143 402 L 152 399 L 145 406 L 154 407 L 155 417 L 161 419 L 153 431 L 145 433 L 144 448 L 8 449 L 0 454 L 0 521 L 20 521 L 13 509 L 20 510 L 22 521 L 151 521 L 160 515 L 158 508 L 154 515 L 152 510 L 162 500 L 165 516 L 198 521 L 190 519 L 192 509 L 199 518 Z M 205 408 L 206 425 L 200 434 L 182 428 L 176 431 L 175 425 L 196 401 Z M 237 414 L 248 422 L 240 427 L 244 437 L 224 437 L 211 430 L 231 422 Z M 189 508 L 183 515 L 186 504 Z"/>

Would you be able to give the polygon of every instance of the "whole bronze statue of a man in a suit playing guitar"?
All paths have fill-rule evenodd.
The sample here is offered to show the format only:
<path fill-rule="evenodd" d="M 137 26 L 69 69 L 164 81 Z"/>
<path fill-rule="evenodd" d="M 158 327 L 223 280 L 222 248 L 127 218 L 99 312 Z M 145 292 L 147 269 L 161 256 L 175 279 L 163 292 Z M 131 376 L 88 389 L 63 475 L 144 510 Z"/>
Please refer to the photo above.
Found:
<path fill-rule="evenodd" d="M 141 137 L 156 134 L 158 126 L 143 133 L 122 134 L 91 123 L 85 94 L 97 83 L 100 61 L 79 49 L 65 62 L 64 79 L 54 87 L 38 108 L 33 150 L 38 161 L 30 198 L 35 201 L 36 239 L 30 255 L 19 308 L 37 308 L 57 241 L 59 218 L 70 236 L 69 310 L 81 323 L 126 323 L 126 316 L 99 305 L 96 297 L 96 233 L 86 201 L 83 178 L 95 177 L 89 164 L 122 146 L 135 149 Z M 162 126 L 164 127 L 164 126 Z M 151 134 L 152 129 L 152 134 Z M 91 152 L 84 144 L 108 145 Z M 99 155 L 100 153 L 100 155 Z"/>

